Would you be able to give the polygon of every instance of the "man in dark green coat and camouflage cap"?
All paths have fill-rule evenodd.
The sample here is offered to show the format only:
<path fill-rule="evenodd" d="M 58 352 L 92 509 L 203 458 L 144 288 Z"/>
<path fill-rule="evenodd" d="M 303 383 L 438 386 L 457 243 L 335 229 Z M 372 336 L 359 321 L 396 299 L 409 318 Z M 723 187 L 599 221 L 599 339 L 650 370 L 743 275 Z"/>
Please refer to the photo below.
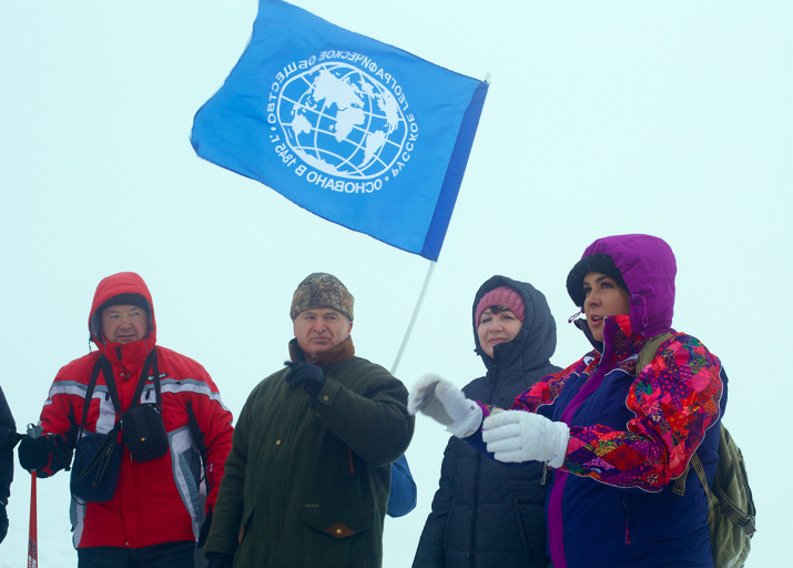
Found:
<path fill-rule="evenodd" d="M 353 302 L 331 274 L 297 286 L 291 361 L 254 388 L 234 430 L 211 568 L 382 565 L 390 464 L 414 418 L 405 386 L 355 356 Z"/>

